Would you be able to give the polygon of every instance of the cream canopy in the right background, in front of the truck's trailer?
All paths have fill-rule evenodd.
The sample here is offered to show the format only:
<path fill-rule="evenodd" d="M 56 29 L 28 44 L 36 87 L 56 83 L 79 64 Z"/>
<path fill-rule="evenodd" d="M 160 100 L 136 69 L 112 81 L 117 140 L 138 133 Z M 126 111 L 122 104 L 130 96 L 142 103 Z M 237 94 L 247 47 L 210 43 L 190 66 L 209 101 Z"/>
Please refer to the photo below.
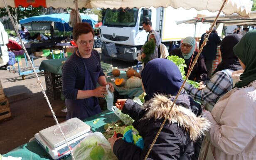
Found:
<path fill-rule="evenodd" d="M 195 22 L 212 23 L 215 16 L 198 15 L 194 19 L 178 21 L 177 25 L 182 23 L 194 24 Z M 249 17 L 242 17 L 237 13 L 232 15 L 220 15 L 217 24 L 224 23 L 225 26 L 229 25 L 256 25 L 256 11 L 251 11 Z"/>

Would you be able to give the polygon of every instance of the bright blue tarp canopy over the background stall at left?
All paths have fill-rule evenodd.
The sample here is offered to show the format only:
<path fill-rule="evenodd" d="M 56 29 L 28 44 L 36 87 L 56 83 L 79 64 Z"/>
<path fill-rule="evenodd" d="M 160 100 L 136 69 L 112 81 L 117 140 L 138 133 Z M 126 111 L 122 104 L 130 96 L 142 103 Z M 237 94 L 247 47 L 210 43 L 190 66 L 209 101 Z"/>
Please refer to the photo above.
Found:
<path fill-rule="evenodd" d="M 97 21 L 93 20 L 90 15 L 81 15 L 82 22 L 89 23 L 93 28 L 94 25 L 97 24 Z M 49 21 L 55 22 L 55 26 L 59 31 L 63 30 L 63 24 L 65 26 L 65 31 L 73 30 L 72 27 L 69 27 L 69 14 L 66 13 L 55 13 L 52 15 L 39 15 L 28 17 L 25 19 L 20 20 L 20 24 L 31 23 L 31 22 L 39 22 L 39 21 Z"/>

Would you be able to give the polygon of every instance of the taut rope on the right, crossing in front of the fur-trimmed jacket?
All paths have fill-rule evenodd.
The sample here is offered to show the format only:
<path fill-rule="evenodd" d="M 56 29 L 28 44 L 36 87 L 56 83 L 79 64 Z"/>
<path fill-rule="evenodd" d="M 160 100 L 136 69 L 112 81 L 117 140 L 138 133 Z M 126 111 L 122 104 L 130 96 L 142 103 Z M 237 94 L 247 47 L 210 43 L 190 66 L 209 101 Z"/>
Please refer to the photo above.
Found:
<path fill-rule="evenodd" d="M 194 65 L 197 63 L 197 59 L 198 59 L 200 53 L 202 52 L 202 49 L 203 49 L 204 46 L 206 45 L 207 40 L 208 40 L 208 37 L 209 37 L 209 34 L 212 32 L 212 28 L 213 28 L 214 25 L 216 24 L 216 21 L 217 21 L 217 19 L 218 19 L 218 17 L 219 17 L 219 14 L 220 14 L 220 12 L 222 11 L 222 9 L 223 9 L 223 7 L 224 7 L 226 1 L 227 1 L 227 0 L 224 0 L 224 1 L 223 1 L 222 7 L 220 8 L 218 15 L 216 16 L 214 22 L 212 23 L 212 26 L 211 26 L 209 32 L 207 32 L 207 33 L 205 34 L 205 36 L 204 36 L 204 42 L 202 43 L 201 48 L 199 49 L 199 52 L 197 53 L 197 56 L 196 56 L 196 58 L 194 59 L 194 62 L 193 62 L 192 66 L 191 66 L 191 68 L 190 68 L 190 70 L 188 71 L 188 74 L 187 74 L 187 76 L 186 76 L 186 79 L 183 81 L 183 84 L 182 84 L 182 86 L 181 86 L 181 88 L 180 88 L 180 90 L 179 90 L 179 92 L 178 92 L 178 94 L 177 94 L 175 100 L 173 101 L 172 106 L 170 107 L 170 110 L 169 110 L 168 114 L 165 116 L 165 120 L 163 121 L 163 123 L 162 123 L 160 129 L 158 130 L 158 133 L 156 134 L 156 136 L 155 136 L 155 138 L 154 138 L 152 144 L 150 145 L 150 148 L 149 148 L 148 153 L 147 153 L 147 155 L 145 156 L 144 160 L 146 160 L 146 159 L 148 158 L 148 155 L 149 155 L 150 151 L 152 150 L 152 148 L 153 148 L 153 146 L 154 146 L 154 144 L 155 144 L 155 142 L 156 142 L 156 140 L 157 140 L 157 138 L 158 138 L 158 136 L 159 136 L 159 134 L 160 134 L 160 132 L 161 132 L 161 130 L 162 130 L 162 128 L 163 128 L 163 126 L 165 125 L 165 122 L 166 122 L 167 118 L 168 118 L 169 115 L 170 115 L 170 112 L 172 111 L 172 107 L 175 105 L 175 102 L 177 101 L 177 98 L 178 98 L 178 96 L 180 95 L 180 92 L 181 92 L 182 89 L 184 88 L 185 83 L 186 83 L 188 77 L 190 76 L 190 73 L 191 73 L 192 69 L 194 68 Z"/>

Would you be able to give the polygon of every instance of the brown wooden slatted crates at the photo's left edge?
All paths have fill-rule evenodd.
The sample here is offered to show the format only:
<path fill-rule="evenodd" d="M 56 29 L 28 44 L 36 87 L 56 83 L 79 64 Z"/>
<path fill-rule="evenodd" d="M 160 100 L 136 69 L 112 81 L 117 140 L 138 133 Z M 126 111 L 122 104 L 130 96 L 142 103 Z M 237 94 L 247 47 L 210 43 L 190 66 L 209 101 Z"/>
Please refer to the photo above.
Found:
<path fill-rule="evenodd" d="M 5 97 L 3 89 L 0 88 L 0 120 L 11 117 L 10 104 Z"/>

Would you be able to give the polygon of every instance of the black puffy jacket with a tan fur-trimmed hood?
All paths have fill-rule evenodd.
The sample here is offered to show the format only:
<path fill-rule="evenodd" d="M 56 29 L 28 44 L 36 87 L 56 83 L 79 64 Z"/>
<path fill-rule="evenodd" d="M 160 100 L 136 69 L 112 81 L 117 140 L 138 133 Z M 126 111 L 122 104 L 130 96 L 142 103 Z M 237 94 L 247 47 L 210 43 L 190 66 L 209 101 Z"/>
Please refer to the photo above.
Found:
<path fill-rule="evenodd" d="M 127 100 L 122 110 L 130 115 L 135 121 L 133 123 L 139 134 L 144 139 L 144 148 L 141 150 L 133 143 L 118 139 L 114 143 L 113 151 L 118 160 L 143 160 L 147 154 L 150 144 L 153 142 L 163 120 L 164 114 L 169 108 L 162 109 L 161 106 L 171 105 L 174 97 L 158 95 L 147 101 L 143 107 Z M 191 99 L 192 100 L 192 99 Z M 209 127 L 209 122 L 197 117 L 192 111 L 201 114 L 202 110 L 198 104 L 190 104 L 187 95 L 179 96 L 178 104 L 172 108 L 169 121 L 166 121 L 155 145 L 153 146 L 148 160 L 192 160 L 194 156 L 194 142 L 202 135 L 203 130 Z M 189 108 L 189 109 L 187 109 Z M 160 116 L 155 120 L 155 114 Z M 178 114 L 177 114 L 178 113 Z M 192 122 L 194 120 L 194 122 Z"/>

